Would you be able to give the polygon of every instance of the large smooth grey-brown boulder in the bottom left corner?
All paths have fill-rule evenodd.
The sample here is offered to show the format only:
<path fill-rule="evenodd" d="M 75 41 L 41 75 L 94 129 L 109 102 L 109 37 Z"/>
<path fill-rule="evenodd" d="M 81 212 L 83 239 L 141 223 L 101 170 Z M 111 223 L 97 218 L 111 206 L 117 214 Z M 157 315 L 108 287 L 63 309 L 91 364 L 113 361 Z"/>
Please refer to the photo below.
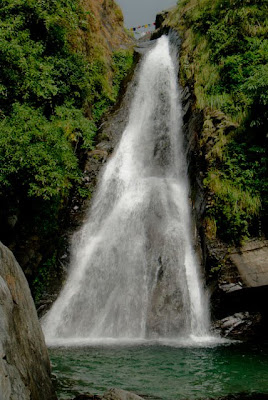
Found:
<path fill-rule="evenodd" d="M 56 399 L 28 283 L 13 254 L 1 242 L 0 399 Z"/>

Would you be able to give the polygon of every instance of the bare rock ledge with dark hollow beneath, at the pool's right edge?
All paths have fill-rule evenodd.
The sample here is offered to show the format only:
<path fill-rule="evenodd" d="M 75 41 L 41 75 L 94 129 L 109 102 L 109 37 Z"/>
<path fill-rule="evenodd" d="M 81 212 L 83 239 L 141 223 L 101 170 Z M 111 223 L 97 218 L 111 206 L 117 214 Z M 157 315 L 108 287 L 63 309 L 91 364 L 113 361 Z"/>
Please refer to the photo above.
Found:
<path fill-rule="evenodd" d="M 217 251 L 214 254 L 218 255 Z M 212 296 L 216 329 L 224 336 L 251 339 L 268 330 L 268 241 L 251 240 L 225 253 Z"/>

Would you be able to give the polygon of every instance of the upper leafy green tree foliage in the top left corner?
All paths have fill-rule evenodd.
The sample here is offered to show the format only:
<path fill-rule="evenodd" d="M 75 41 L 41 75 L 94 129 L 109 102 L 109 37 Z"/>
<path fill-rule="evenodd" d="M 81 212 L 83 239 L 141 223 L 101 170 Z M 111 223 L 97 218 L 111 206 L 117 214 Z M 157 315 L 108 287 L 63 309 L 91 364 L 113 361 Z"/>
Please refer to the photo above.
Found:
<path fill-rule="evenodd" d="M 66 98 L 81 107 L 90 89 L 86 63 L 70 50 L 76 2 L 5 0 L 0 8 L 0 108 L 22 101 L 51 115 Z"/>

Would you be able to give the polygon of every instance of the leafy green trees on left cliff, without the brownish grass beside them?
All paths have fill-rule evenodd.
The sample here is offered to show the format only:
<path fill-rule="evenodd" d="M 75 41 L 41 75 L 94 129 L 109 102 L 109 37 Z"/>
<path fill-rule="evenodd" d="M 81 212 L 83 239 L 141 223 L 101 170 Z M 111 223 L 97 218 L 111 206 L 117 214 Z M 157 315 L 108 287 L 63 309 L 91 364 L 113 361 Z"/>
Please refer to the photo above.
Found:
<path fill-rule="evenodd" d="M 78 3 L 4 0 L 0 20 L 0 189 L 66 194 L 79 177 L 76 146 L 95 133 L 82 112 L 87 65 L 67 41 Z"/>

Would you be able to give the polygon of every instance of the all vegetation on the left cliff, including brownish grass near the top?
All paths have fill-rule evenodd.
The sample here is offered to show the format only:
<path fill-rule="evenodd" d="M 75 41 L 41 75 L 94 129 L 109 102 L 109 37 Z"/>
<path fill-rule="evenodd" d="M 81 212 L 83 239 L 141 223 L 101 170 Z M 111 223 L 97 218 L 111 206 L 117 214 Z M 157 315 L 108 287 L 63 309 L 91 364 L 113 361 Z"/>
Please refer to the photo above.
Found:
<path fill-rule="evenodd" d="M 120 22 L 117 5 L 106 3 L 109 18 Z M 97 2 L 81 4 L 2 0 L 0 6 L 0 223 L 20 213 L 29 232 L 45 240 L 57 236 L 70 191 L 88 193 L 80 186 L 81 159 L 133 61 L 132 51 L 105 47 Z M 123 31 L 119 22 L 115 29 Z"/>

